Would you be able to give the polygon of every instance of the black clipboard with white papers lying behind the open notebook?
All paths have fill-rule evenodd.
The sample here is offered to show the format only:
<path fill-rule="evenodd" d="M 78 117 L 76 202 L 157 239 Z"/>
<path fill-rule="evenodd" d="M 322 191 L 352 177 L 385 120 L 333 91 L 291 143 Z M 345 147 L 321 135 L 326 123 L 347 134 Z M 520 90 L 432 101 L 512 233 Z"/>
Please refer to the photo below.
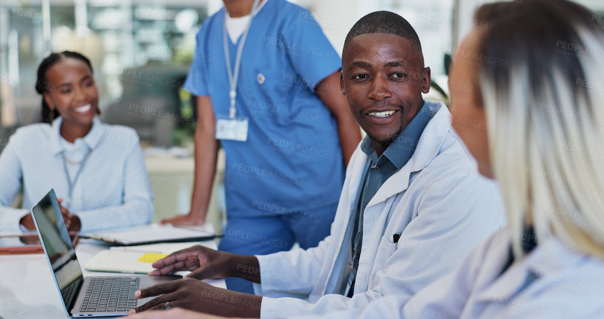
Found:
<path fill-rule="evenodd" d="M 137 246 L 155 243 L 202 242 L 219 235 L 214 232 L 193 230 L 172 225 L 151 224 L 133 228 L 97 231 L 80 234 L 81 238 L 92 238 L 114 246 Z"/>

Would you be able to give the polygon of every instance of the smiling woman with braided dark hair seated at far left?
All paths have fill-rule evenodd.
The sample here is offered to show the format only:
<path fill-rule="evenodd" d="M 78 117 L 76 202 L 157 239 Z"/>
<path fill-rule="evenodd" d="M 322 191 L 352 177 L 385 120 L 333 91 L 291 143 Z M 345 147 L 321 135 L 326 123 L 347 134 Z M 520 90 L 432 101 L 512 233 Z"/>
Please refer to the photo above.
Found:
<path fill-rule="evenodd" d="M 30 208 L 51 188 L 69 230 L 135 226 L 153 215 L 135 130 L 101 123 L 90 61 L 50 54 L 37 71 L 42 123 L 19 128 L 0 154 L 0 230 L 35 229 Z M 23 189 L 22 209 L 9 206 Z"/>

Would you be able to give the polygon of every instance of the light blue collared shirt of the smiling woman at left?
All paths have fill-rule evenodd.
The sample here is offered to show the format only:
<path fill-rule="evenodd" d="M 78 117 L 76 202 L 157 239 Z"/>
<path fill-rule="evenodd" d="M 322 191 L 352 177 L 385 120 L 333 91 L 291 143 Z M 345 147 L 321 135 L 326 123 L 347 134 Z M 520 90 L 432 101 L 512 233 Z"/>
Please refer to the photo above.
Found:
<path fill-rule="evenodd" d="M 51 188 L 80 217 L 82 232 L 149 223 L 153 192 L 137 132 L 95 117 L 89 133 L 71 144 L 60 136 L 61 123 L 59 117 L 52 125 L 27 125 L 0 141 L 0 231 L 19 231 L 21 217 Z M 22 209 L 11 208 L 21 188 Z"/>

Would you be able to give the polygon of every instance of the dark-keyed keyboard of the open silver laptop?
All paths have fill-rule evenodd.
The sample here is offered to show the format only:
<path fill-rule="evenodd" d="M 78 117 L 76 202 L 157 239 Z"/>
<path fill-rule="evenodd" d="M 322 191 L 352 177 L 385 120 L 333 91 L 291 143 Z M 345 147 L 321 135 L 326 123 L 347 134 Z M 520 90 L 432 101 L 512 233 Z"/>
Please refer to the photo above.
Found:
<path fill-rule="evenodd" d="M 137 307 L 134 292 L 140 277 L 95 277 L 86 289 L 80 312 L 129 311 Z"/>

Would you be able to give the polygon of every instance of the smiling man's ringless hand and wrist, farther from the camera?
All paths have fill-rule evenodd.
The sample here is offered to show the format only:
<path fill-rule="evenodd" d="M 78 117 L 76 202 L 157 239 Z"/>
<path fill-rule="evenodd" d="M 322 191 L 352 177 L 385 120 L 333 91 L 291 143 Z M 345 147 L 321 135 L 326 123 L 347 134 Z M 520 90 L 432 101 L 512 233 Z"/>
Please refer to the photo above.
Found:
<path fill-rule="evenodd" d="M 255 256 L 217 251 L 201 245 L 173 252 L 153 263 L 157 268 L 149 275 L 165 275 L 175 271 L 191 271 L 185 277 L 205 278 L 239 277 L 260 283 L 260 266 Z"/>

